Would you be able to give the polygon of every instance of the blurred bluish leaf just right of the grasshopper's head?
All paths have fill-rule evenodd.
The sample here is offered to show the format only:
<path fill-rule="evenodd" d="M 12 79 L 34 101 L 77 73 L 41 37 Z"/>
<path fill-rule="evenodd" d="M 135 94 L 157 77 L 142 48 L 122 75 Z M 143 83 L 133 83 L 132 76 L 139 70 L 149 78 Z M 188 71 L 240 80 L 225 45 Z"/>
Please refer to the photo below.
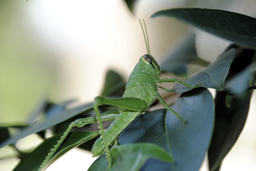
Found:
<path fill-rule="evenodd" d="M 208 62 L 198 58 L 196 54 L 195 35 L 190 35 L 172 54 L 162 62 L 162 71 L 171 72 L 179 76 L 187 77 L 187 64 L 207 66 Z"/>

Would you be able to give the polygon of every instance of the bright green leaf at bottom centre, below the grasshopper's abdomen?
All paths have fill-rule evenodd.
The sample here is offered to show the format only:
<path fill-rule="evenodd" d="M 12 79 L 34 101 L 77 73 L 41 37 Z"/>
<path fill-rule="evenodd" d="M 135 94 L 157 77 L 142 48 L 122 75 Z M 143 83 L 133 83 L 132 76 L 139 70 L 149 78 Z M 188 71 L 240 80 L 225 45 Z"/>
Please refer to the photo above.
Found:
<path fill-rule="evenodd" d="M 170 154 L 152 143 L 116 145 L 111 148 L 111 157 L 113 159 L 111 171 L 139 171 L 148 159 L 173 162 Z"/>

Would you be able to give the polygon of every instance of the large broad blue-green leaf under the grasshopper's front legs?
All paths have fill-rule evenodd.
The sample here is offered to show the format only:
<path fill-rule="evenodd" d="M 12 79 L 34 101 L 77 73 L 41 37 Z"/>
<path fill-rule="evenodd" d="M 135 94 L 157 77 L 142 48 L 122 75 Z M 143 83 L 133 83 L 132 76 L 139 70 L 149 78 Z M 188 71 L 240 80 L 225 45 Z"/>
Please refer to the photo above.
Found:
<path fill-rule="evenodd" d="M 149 159 L 142 170 L 198 170 L 210 143 L 214 124 L 214 101 L 208 89 L 182 93 L 172 106 L 188 123 L 172 112 L 158 109 L 140 115 L 120 135 L 119 143 L 154 143 L 174 158 L 174 163 Z"/>

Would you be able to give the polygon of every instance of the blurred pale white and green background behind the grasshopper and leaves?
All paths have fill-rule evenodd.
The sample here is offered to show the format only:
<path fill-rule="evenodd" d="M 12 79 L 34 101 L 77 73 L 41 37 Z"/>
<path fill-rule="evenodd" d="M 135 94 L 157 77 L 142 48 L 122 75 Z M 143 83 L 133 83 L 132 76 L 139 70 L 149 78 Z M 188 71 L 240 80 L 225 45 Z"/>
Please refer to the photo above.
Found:
<path fill-rule="evenodd" d="M 146 54 L 138 18 L 146 22 L 152 56 L 159 63 L 191 32 L 196 32 L 198 56 L 214 60 L 229 42 L 176 20 L 149 19 L 158 10 L 180 7 L 256 17 L 255 0 L 137 0 L 134 13 L 123 0 L 1 0 L 0 124 L 24 123 L 43 99 L 60 103 L 75 98 L 76 104 L 92 101 L 99 95 L 108 69 L 127 80 L 140 56 Z M 255 101 L 255 93 L 252 98 Z M 223 170 L 256 167 L 256 139 L 251 136 L 256 135 L 256 109 L 250 113 Z M 0 149 L 0 155 L 6 153 L 8 149 Z M 67 170 L 86 170 L 96 158 L 84 153 L 74 149 L 48 170 L 60 169 L 60 165 Z M 70 157 L 76 160 L 71 162 Z M 17 162 L 14 157 L 0 160 L 0 170 L 12 170 Z"/>

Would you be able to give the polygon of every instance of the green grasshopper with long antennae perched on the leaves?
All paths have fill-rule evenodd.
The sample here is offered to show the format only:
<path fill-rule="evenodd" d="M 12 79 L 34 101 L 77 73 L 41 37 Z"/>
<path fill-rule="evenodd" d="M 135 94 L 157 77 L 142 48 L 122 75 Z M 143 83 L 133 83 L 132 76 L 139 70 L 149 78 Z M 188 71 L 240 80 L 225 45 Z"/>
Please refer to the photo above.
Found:
<path fill-rule="evenodd" d="M 158 83 L 179 82 L 191 89 L 202 86 L 202 84 L 196 84 L 194 86 L 191 86 L 186 84 L 185 82 L 182 82 L 181 80 L 178 80 L 177 78 L 160 79 L 161 69 L 150 54 L 148 33 L 146 30 L 145 22 L 144 27 L 146 36 L 141 21 L 140 25 L 142 27 L 142 32 L 144 35 L 148 54 L 140 57 L 138 64 L 135 66 L 134 70 L 130 74 L 123 96 L 120 98 L 96 97 L 93 103 L 93 108 L 96 112 L 96 121 L 99 125 L 100 137 L 95 141 L 92 147 L 92 153 L 93 157 L 95 157 L 105 152 L 109 168 L 112 164 L 109 146 L 136 117 L 146 111 L 146 109 L 152 104 L 156 97 L 158 97 L 160 103 L 162 103 L 162 105 L 166 109 L 172 111 L 172 113 L 174 113 L 184 124 L 187 122 L 178 113 L 172 110 L 164 101 L 163 97 L 158 93 L 158 87 L 170 92 L 170 90 L 158 86 Z M 114 121 L 105 131 L 102 125 L 103 115 L 100 115 L 100 111 L 98 109 L 99 105 L 116 106 L 116 108 L 104 112 L 105 115 L 107 114 L 110 116 L 103 119 L 104 121 L 114 119 Z M 119 113 L 119 115 L 117 117 L 116 115 L 111 116 L 110 113 Z M 92 122 L 95 122 L 95 118 Z M 61 137 L 58 143 L 54 145 L 50 153 L 48 153 L 48 156 L 44 160 L 44 163 L 42 163 L 39 170 L 41 170 L 44 165 L 46 165 L 46 163 L 50 161 L 51 157 L 54 155 L 58 147 L 60 147 L 60 144 L 64 141 L 68 133 L 71 131 L 72 127 L 83 127 L 85 124 L 88 124 L 88 118 L 81 118 L 72 122 L 68 126 L 68 129 L 64 132 L 64 135 Z"/>

